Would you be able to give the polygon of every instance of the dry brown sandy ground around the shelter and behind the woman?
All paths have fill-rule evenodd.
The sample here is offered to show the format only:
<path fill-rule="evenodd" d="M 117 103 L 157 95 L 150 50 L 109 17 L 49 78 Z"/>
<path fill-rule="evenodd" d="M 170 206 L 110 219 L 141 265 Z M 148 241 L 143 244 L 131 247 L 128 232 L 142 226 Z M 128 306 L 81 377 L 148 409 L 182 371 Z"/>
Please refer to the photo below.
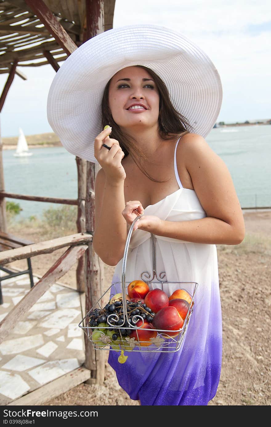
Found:
<path fill-rule="evenodd" d="M 244 211 L 246 237 L 238 246 L 217 245 L 223 321 L 223 356 L 219 387 L 209 405 L 270 405 L 270 255 L 271 211 Z M 16 232 L 9 228 L 9 232 Z M 73 231 L 74 232 L 74 231 Z M 21 237 L 38 241 L 36 232 Z M 18 234 L 18 233 L 17 233 Z M 32 258 L 33 271 L 43 275 L 63 250 Z M 13 263 L 25 268 L 25 260 Z M 11 264 L 10 264 L 11 265 Z M 114 267 L 104 266 L 105 289 Z M 61 278 L 76 288 L 76 266 Z M 108 355 L 108 351 L 106 352 Z M 45 405 L 138 405 L 117 382 L 106 363 L 102 386 L 82 383 Z"/>

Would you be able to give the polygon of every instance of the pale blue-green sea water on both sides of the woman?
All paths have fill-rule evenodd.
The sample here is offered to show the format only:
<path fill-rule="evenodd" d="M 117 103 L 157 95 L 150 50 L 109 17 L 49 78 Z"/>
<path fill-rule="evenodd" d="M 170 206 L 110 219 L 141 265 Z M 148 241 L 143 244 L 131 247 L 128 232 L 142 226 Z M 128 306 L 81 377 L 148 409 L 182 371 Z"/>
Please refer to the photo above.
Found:
<path fill-rule="evenodd" d="M 207 143 L 226 164 L 242 208 L 271 206 L 271 125 L 219 127 L 211 130 Z M 64 147 L 33 148 L 33 155 L 14 157 L 3 150 L 5 190 L 29 196 L 77 198 L 77 168 L 74 155 Z M 59 204 L 19 199 L 17 219 L 42 217 Z"/>

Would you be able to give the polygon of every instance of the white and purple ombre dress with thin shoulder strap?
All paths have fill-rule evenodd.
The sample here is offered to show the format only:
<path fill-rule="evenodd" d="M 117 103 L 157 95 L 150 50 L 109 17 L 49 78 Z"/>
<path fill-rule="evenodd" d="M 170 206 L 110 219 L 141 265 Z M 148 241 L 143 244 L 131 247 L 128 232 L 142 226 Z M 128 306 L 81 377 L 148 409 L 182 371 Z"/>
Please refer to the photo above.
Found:
<path fill-rule="evenodd" d="M 167 221 L 204 218 L 206 213 L 195 191 L 181 185 L 176 165 L 177 144 L 174 167 L 180 188 L 160 202 L 147 206 L 144 214 Z M 168 282 L 198 282 L 184 342 L 179 351 L 172 353 L 125 352 L 128 359 L 124 364 L 118 362 L 119 352 L 110 351 L 108 362 L 116 371 L 122 389 L 131 399 L 140 400 L 141 405 L 207 405 L 216 395 L 222 355 L 216 246 L 162 236 L 154 238 L 157 276 L 165 271 Z M 130 240 L 125 281 L 140 280 L 144 271 L 152 273 L 152 239 L 150 233 L 136 230 Z M 121 280 L 122 260 L 116 266 L 112 283 Z M 194 285 L 191 286 L 183 287 L 192 294 Z M 163 284 L 168 295 L 179 287 Z M 121 292 L 121 287 L 117 292 Z"/>

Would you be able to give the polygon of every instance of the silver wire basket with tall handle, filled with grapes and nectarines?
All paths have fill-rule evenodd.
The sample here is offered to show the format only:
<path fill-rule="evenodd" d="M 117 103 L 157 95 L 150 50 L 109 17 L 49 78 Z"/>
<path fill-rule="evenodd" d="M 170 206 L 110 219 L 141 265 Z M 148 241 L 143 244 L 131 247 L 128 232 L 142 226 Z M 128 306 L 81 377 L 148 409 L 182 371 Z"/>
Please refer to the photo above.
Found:
<path fill-rule="evenodd" d="M 175 326 L 173 329 L 155 329 L 152 322 L 162 310 L 154 313 L 152 308 L 146 305 L 146 300 L 143 298 L 130 298 L 128 296 L 128 286 L 131 282 L 125 281 L 131 234 L 134 223 L 140 218 L 141 216 L 137 216 L 134 219 L 128 232 L 122 262 L 122 281 L 111 284 L 79 323 L 79 327 L 84 330 L 96 350 L 121 352 L 120 363 L 124 363 L 127 359 L 127 356 L 124 356 L 124 351 L 168 353 L 180 350 L 194 309 L 195 292 L 198 287 L 197 282 L 169 282 L 166 279 L 166 272 L 160 272 L 159 277 L 157 276 L 155 241 L 151 233 L 153 272 L 152 275 L 146 271 L 141 273 L 141 281 L 147 284 L 148 287 L 158 288 L 163 292 L 164 290 L 169 290 L 171 286 L 175 291 L 182 290 L 190 297 L 190 302 L 187 302 L 185 318 L 181 318 L 180 322 L 175 324 L 179 328 Z M 190 292 L 186 289 L 188 285 L 191 289 Z M 120 286 L 122 292 L 119 292 Z M 103 301 L 108 298 L 108 295 L 108 304 L 103 306 Z"/>

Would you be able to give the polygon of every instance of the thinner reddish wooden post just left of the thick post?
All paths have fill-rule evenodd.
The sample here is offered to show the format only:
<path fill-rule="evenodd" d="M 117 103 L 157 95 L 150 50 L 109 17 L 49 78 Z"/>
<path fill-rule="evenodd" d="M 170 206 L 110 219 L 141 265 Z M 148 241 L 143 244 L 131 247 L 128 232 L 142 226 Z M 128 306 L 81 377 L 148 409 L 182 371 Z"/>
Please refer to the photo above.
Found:
<path fill-rule="evenodd" d="M 85 196 L 87 187 L 87 161 L 76 156 L 78 176 L 78 210 L 77 210 L 77 232 L 86 231 Z M 85 292 L 85 256 L 78 260 L 76 269 L 76 288 L 79 292 Z"/>

